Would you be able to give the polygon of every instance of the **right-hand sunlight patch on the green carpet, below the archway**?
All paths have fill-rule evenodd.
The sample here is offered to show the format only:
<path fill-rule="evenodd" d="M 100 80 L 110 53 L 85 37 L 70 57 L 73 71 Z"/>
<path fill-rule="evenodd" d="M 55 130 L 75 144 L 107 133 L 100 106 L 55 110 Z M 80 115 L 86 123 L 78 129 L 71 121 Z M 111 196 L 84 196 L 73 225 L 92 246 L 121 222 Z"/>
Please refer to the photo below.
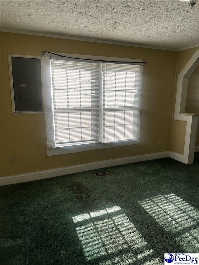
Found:
<path fill-rule="evenodd" d="M 189 253 L 199 252 L 199 211 L 175 194 L 158 195 L 140 205 Z"/>

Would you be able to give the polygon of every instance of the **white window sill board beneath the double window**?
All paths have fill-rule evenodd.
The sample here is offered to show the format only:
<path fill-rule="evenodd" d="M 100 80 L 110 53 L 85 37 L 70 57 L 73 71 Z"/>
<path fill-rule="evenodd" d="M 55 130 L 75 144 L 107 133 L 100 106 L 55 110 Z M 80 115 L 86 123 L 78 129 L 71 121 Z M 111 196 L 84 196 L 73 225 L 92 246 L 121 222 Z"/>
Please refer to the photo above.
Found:
<path fill-rule="evenodd" d="M 90 150 L 97 150 L 97 149 L 104 149 L 104 148 L 111 148 L 111 147 L 118 147 L 118 146 L 125 146 L 131 144 L 139 144 L 140 140 L 130 140 L 130 141 L 123 141 L 123 142 L 114 142 L 114 143 L 94 143 L 94 144 L 80 144 L 80 145 L 72 145 L 72 146 L 61 146 L 61 147 L 52 147 L 46 148 L 46 155 L 47 156 L 54 156 L 54 155 L 62 155 L 62 154 L 69 154 L 69 153 L 78 153 Z"/>

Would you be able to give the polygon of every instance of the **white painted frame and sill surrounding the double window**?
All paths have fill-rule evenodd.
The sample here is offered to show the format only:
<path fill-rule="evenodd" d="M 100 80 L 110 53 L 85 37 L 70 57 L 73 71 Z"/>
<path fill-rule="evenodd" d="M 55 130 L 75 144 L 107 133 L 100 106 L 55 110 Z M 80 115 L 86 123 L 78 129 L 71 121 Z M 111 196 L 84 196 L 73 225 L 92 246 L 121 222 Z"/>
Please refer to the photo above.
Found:
<path fill-rule="evenodd" d="M 67 56 L 67 57 L 73 57 L 77 59 L 84 59 L 84 60 L 91 59 L 91 60 L 104 60 L 104 61 L 117 61 L 117 62 L 119 61 L 121 62 L 129 62 L 129 61 L 143 62 L 143 60 L 141 59 L 131 59 L 131 58 L 104 57 L 104 56 L 80 55 L 80 54 L 70 54 L 70 53 L 57 53 L 57 54 Z M 71 145 L 71 146 L 55 146 L 55 128 L 54 126 L 52 126 L 52 124 L 54 124 L 54 115 L 53 115 L 53 91 L 51 89 L 52 80 L 51 80 L 50 59 L 53 59 L 53 60 L 61 59 L 62 60 L 64 58 L 51 55 L 49 53 L 45 53 L 43 55 L 43 52 L 42 52 L 41 59 L 42 59 L 41 66 L 42 66 L 43 99 L 44 99 L 43 106 L 44 106 L 44 112 L 45 112 L 46 135 L 47 135 L 47 148 L 46 148 L 47 156 L 139 144 L 140 140 L 138 138 L 135 140 L 125 140 L 125 141 L 112 142 L 112 143 L 90 143 L 90 144 L 78 144 L 78 145 Z M 141 74 L 142 74 L 142 71 L 141 71 Z M 102 97 L 99 98 L 99 101 L 102 103 Z M 100 104 L 99 110 L 100 111 L 102 110 L 102 104 Z M 100 119 L 101 120 L 99 123 L 102 122 L 102 117 L 100 117 Z"/>

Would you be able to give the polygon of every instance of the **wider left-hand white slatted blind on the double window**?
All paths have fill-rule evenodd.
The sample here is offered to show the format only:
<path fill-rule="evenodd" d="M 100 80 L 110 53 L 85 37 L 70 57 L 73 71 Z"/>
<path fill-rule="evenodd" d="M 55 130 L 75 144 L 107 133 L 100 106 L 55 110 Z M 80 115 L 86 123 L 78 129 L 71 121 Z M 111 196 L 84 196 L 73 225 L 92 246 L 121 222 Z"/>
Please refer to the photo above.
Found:
<path fill-rule="evenodd" d="M 99 63 L 51 60 L 55 144 L 99 142 Z"/>

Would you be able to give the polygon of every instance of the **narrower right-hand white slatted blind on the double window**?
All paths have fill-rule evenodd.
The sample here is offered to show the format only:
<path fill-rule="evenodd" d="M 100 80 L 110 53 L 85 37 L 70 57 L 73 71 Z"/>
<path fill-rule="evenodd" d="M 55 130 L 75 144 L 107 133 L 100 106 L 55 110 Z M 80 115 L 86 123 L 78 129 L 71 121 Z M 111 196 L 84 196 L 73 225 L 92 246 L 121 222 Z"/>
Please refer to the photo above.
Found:
<path fill-rule="evenodd" d="M 139 138 L 142 66 L 102 63 L 103 142 Z"/>

